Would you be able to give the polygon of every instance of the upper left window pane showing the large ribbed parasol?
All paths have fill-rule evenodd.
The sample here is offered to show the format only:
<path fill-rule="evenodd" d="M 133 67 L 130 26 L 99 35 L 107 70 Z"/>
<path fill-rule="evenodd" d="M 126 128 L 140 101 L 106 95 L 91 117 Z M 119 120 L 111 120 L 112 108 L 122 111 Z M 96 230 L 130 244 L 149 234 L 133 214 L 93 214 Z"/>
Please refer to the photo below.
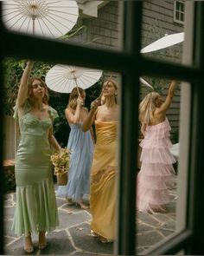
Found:
<path fill-rule="evenodd" d="M 28 1 L 25 2 L 26 5 Z M 68 40 L 81 44 L 88 43 L 89 46 L 105 49 L 121 49 L 122 16 L 118 1 L 103 1 L 103 3 L 101 1 L 78 1 L 78 3 L 76 1 L 65 1 L 61 3 L 60 7 L 54 5 L 55 2 L 45 3 L 46 6 L 41 5 L 39 1 L 33 2 L 35 4 L 29 3 L 28 8 L 23 4 L 22 6 L 19 6 L 19 3 L 12 5 L 3 1 L 3 6 L 5 6 L 3 13 L 6 14 L 3 22 L 8 29 L 24 33 L 29 30 L 31 35 L 34 29 L 36 36 L 60 38 L 64 41 Z M 25 8 L 23 13 L 21 12 L 22 7 Z M 48 10 L 54 10 L 56 16 L 53 16 L 53 13 L 47 13 L 47 7 Z M 20 12 L 18 18 L 10 16 L 12 8 L 15 8 L 16 14 Z M 31 13 L 35 12 L 35 9 L 38 10 L 38 15 L 41 15 L 42 19 L 37 16 L 38 19 L 36 18 L 32 23 L 27 12 L 28 10 Z M 19 18 L 20 16 L 22 17 Z M 28 22 L 24 21 L 27 16 Z M 24 29 L 22 30 L 22 28 Z"/>

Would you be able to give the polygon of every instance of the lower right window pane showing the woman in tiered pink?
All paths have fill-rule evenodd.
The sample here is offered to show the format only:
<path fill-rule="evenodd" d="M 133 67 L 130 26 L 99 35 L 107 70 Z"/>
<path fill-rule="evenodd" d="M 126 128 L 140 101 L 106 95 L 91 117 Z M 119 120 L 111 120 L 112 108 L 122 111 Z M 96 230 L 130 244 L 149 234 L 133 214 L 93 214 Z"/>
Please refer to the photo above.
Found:
<path fill-rule="evenodd" d="M 185 227 L 188 186 L 187 169 L 182 166 L 185 161 L 180 159 L 183 157 L 180 148 L 186 147 L 180 140 L 181 131 L 182 136 L 188 133 L 188 116 L 183 112 L 183 108 L 188 111 L 188 102 L 182 102 L 183 99 L 188 101 L 185 91 L 188 85 L 175 83 L 175 95 L 167 108 L 166 119 L 159 120 L 156 111 L 165 102 L 173 83 L 159 77 L 143 76 L 143 79 L 149 86 L 141 83 L 140 102 L 143 101 L 143 105 L 140 105 L 141 130 L 137 141 L 140 160 L 137 167 L 137 254 L 148 253 Z M 152 119 L 148 119 L 152 112 Z M 150 124 L 142 126 L 148 120 L 152 120 Z M 186 121 L 182 128 L 181 120 Z"/>

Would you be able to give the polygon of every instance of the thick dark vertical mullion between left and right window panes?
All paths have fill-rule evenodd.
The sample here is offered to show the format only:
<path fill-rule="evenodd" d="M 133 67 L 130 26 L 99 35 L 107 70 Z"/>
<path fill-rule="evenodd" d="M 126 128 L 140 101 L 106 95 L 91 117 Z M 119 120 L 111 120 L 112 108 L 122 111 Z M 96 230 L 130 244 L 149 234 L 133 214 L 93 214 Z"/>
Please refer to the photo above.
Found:
<path fill-rule="evenodd" d="M 119 151 L 118 239 L 116 253 L 134 255 L 136 249 L 137 107 L 139 99 L 138 62 L 141 49 L 142 2 L 124 1 L 125 62 L 121 89 Z"/>

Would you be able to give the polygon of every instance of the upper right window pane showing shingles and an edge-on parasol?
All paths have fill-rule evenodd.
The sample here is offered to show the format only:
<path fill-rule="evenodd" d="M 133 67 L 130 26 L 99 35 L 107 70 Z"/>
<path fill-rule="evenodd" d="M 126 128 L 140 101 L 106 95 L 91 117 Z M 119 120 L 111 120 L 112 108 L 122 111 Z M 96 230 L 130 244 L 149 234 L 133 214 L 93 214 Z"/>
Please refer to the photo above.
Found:
<path fill-rule="evenodd" d="M 182 62 L 184 28 L 181 23 L 175 23 L 173 11 L 174 2 L 143 3 L 143 56 L 168 62 Z M 181 19 L 179 11 L 175 12 L 175 19 Z"/>

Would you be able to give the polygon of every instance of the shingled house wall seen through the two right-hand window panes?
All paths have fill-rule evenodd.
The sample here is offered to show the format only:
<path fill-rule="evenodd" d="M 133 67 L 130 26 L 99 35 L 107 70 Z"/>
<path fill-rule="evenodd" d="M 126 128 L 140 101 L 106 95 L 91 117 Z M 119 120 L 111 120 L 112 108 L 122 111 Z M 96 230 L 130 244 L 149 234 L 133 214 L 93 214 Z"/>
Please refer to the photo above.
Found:
<path fill-rule="evenodd" d="M 143 32 L 142 32 L 142 46 L 156 41 L 158 38 L 165 36 L 165 34 L 174 34 L 183 32 L 183 25 L 174 22 L 174 1 L 163 0 L 148 0 L 143 1 Z M 156 52 L 146 54 L 146 56 L 158 59 L 164 59 L 169 62 L 182 61 L 182 43 L 178 43 L 167 49 L 161 49 Z M 158 80 L 158 79 L 157 79 Z M 152 79 L 149 80 L 151 83 Z M 160 80 L 158 80 L 160 81 Z M 169 80 L 160 81 L 159 85 L 163 88 L 162 95 L 167 94 Z M 143 90 L 141 98 L 143 98 Z M 179 128 L 180 119 L 180 96 L 181 90 L 178 85 L 175 91 L 173 102 L 169 108 L 167 116 L 172 128 L 171 134 L 173 139 L 176 139 L 176 134 Z"/>

